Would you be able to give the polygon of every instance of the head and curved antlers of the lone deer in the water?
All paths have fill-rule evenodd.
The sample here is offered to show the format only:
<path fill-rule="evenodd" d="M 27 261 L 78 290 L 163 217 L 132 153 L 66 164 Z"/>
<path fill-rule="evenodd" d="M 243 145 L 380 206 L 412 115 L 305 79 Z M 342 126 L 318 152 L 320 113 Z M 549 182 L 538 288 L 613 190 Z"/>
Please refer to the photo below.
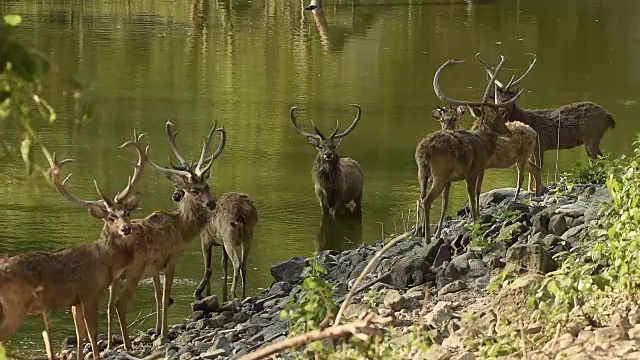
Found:
<path fill-rule="evenodd" d="M 302 136 L 306 137 L 309 140 L 309 144 L 311 144 L 318 150 L 322 159 L 332 162 L 337 161 L 338 159 L 336 150 L 338 148 L 338 145 L 340 145 L 341 139 L 349 135 L 349 133 L 353 131 L 356 125 L 358 125 L 358 121 L 360 121 L 360 117 L 362 115 L 362 109 L 360 109 L 360 106 L 358 104 L 350 104 L 350 106 L 353 106 L 357 109 L 356 117 L 351 125 L 349 125 L 349 127 L 345 131 L 338 133 L 340 124 L 336 120 L 336 128 L 333 130 L 331 135 L 329 135 L 329 137 L 326 137 L 324 136 L 324 134 L 322 134 L 318 127 L 313 123 L 313 120 L 311 121 L 311 125 L 316 132 L 315 134 L 305 131 L 300 125 L 298 125 L 298 122 L 296 120 L 296 112 L 299 108 L 298 106 L 292 107 L 289 114 L 291 116 L 291 122 L 293 123 L 293 126 L 296 128 L 296 130 L 298 130 L 298 132 L 302 134 Z"/>

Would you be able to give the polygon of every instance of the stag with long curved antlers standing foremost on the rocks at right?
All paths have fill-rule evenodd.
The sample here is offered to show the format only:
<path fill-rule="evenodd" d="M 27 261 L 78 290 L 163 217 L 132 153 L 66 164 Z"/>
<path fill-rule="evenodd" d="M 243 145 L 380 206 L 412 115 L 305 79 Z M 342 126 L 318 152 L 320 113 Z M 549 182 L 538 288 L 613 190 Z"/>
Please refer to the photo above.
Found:
<path fill-rule="evenodd" d="M 505 58 L 501 57 L 496 74 L 502 69 Z M 472 109 L 476 121 L 471 130 L 439 130 L 425 137 L 416 147 L 415 160 L 418 165 L 420 199 L 424 207 L 425 241 L 431 238 L 429 211 L 433 201 L 444 191 L 442 210 L 436 237 L 442 231 L 442 222 L 449 202 L 451 182 L 465 180 L 469 195 L 469 207 L 473 219 L 479 216 L 479 200 L 476 189 L 482 187 L 482 178 L 487 160 L 496 148 L 498 135 L 508 135 L 509 129 L 504 119 L 496 111 L 507 104 L 488 103 L 489 91 L 493 87 L 495 76 L 489 80 L 481 102 L 454 100 L 440 90 L 440 75 L 449 65 L 462 64 L 464 60 L 449 60 L 442 64 L 433 77 L 433 89 L 440 100 L 454 105 L 466 105 Z M 515 101 L 520 96 L 518 94 Z M 429 178 L 433 184 L 427 192 Z"/>

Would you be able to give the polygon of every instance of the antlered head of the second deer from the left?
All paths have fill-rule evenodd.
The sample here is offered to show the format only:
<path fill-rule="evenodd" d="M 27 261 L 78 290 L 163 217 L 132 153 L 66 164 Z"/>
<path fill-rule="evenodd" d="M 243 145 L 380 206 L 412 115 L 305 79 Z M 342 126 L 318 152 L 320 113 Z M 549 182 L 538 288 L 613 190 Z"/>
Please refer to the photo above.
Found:
<path fill-rule="evenodd" d="M 211 130 L 209 130 L 209 134 L 204 138 L 202 151 L 200 152 L 200 159 L 197 162 L 189 164 L 182 156 L 178 146 L 176 145 L 177 132 L 174 130 L 173 123 L 171 123 L 171 121 L 167 121 L 166 126 L 169 146 L 171 146 L 171 150 L 180 163 L 178 165 L 174 165 L 171 163 L 171 160 L 169 160 L 171 168 L 165 168 L 155 164 L 148 158 L 147 162 L 156 170 L 164 173 L 171 183 L 173 183 L 176 188 L 176 191 L 172 195 L 172 199 L 174 201 L 179 202 L 183 198 L 189 198 L 189 200 L 202 204 L 209 210 L 213 210 L 216 203 L 211 199 L 207 180 L 211 173 L 211 165 L 213 164 L 213 161 L 217 159 L 224 150 L 227 134 L 226 130 L 224 127 L 218 128 L 217 122 L 215 122 L 213 127 L 211 127 Z M 220 144 L 211 156 L 206 157 L 215 132 L 220 133 Z"/>

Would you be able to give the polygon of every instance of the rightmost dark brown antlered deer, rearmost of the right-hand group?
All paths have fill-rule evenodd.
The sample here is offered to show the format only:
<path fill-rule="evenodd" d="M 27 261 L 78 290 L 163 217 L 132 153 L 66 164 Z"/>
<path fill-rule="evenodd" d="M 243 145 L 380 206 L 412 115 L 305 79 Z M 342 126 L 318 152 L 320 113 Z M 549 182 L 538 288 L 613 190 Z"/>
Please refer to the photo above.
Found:
<path fill-rule="evenodd" d="M 529 62 L 529 67 L 517 80 L 511 80 L 503 85 L 495 81 L 495 101 L 506 102 L 513 99 L 518 92 L 518 85 L 531 72 L 536 63 L 535 54 Z M 493 70 L 476 54 L 476 59 L 482 64 L 489 76 Z M 596 159 L 602 156 L 600 141 L 605 132 L 615 128 L 616 122 L 613 115 L 602 106 L 590 102 L 581 101 L 563 105 L 556 109 L 522 109 L 515 102 L 505 107 L 505 119 L 507 122 L 519 121 L 529 125 L 538 134 L 536 146 L 533 152 L 534 161 L 544 169 L 544 152 L 546 150 L 572 149 L 584 145 L 587 156 Z M 531 176 L 529 176 L 531 183 Z"/>

